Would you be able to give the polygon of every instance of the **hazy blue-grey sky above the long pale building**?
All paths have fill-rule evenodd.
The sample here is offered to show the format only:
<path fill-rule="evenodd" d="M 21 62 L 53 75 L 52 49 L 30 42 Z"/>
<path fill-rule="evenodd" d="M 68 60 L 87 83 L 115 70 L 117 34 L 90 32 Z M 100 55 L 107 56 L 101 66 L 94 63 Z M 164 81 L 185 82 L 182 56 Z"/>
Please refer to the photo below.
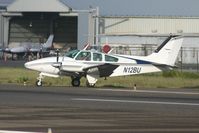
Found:
<path fill-rule="evenodd" d="M 13 0 L 0 0 L 7 4 Z M 39 1 L 40 0 L 35 0 Z M 46 0 L 48 1 L 48 0 Z M 199 0 L 61 0 L 80 10 L 99 7 L 103 16 L 195 16 L 199 17 Z"/>

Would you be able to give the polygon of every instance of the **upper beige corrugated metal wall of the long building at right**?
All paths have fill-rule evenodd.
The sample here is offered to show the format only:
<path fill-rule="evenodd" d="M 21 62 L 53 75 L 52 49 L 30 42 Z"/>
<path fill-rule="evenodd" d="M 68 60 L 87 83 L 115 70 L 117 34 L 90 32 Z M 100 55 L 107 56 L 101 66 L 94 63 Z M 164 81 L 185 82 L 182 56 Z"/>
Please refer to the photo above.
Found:
<path fill-rule="evenodd" d="M 101 17 L 100 34 L 199 33 L 199 18 Z"/>

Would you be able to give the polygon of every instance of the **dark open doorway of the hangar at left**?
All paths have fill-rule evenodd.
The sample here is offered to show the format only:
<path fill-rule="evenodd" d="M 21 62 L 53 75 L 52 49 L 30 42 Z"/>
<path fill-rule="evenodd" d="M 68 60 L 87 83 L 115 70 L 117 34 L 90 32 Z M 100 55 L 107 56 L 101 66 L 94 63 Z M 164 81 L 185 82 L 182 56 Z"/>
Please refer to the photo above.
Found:
<path fill-rule="evenodd" d="M 9 42 L 43 43 L 54 34 L 54 43 L 77 46 L 77 17 L 58 13 L 23 13 L 10 20 Z"/>

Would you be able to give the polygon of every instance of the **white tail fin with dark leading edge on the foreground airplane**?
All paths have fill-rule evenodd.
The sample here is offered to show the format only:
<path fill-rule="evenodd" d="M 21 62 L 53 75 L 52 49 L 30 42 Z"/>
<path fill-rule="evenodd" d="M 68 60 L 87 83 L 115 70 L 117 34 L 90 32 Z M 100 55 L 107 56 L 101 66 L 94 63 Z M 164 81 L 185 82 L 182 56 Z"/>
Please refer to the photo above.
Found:
<path fill-rule="evenodd" d="M 151 55 L 147 56 L 147 60 L 168 66 L 174 66 L 183 38 L 180 36 L 169 36 Z"/>

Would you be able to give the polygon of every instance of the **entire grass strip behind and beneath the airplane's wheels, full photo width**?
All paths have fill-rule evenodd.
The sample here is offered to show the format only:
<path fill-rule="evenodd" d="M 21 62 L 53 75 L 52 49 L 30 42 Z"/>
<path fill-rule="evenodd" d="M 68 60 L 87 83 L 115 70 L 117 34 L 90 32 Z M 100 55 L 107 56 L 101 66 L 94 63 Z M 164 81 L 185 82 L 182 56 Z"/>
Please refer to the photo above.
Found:
<path fill-rule="evenodd" d="M 25 68 L 0 68 L 0 84 L 35 85 L 39 73 Z M 81 79 L 85 86 L 86 79 Z M 96 87 L 114 88 L 199 88 L 199 74 L 190 72 L 168 71 L 155 74 L 134 75 L 126 77 L 100 78 Z M 44 79 L 45 86 L 71 86 L 70 77 Z"/>

